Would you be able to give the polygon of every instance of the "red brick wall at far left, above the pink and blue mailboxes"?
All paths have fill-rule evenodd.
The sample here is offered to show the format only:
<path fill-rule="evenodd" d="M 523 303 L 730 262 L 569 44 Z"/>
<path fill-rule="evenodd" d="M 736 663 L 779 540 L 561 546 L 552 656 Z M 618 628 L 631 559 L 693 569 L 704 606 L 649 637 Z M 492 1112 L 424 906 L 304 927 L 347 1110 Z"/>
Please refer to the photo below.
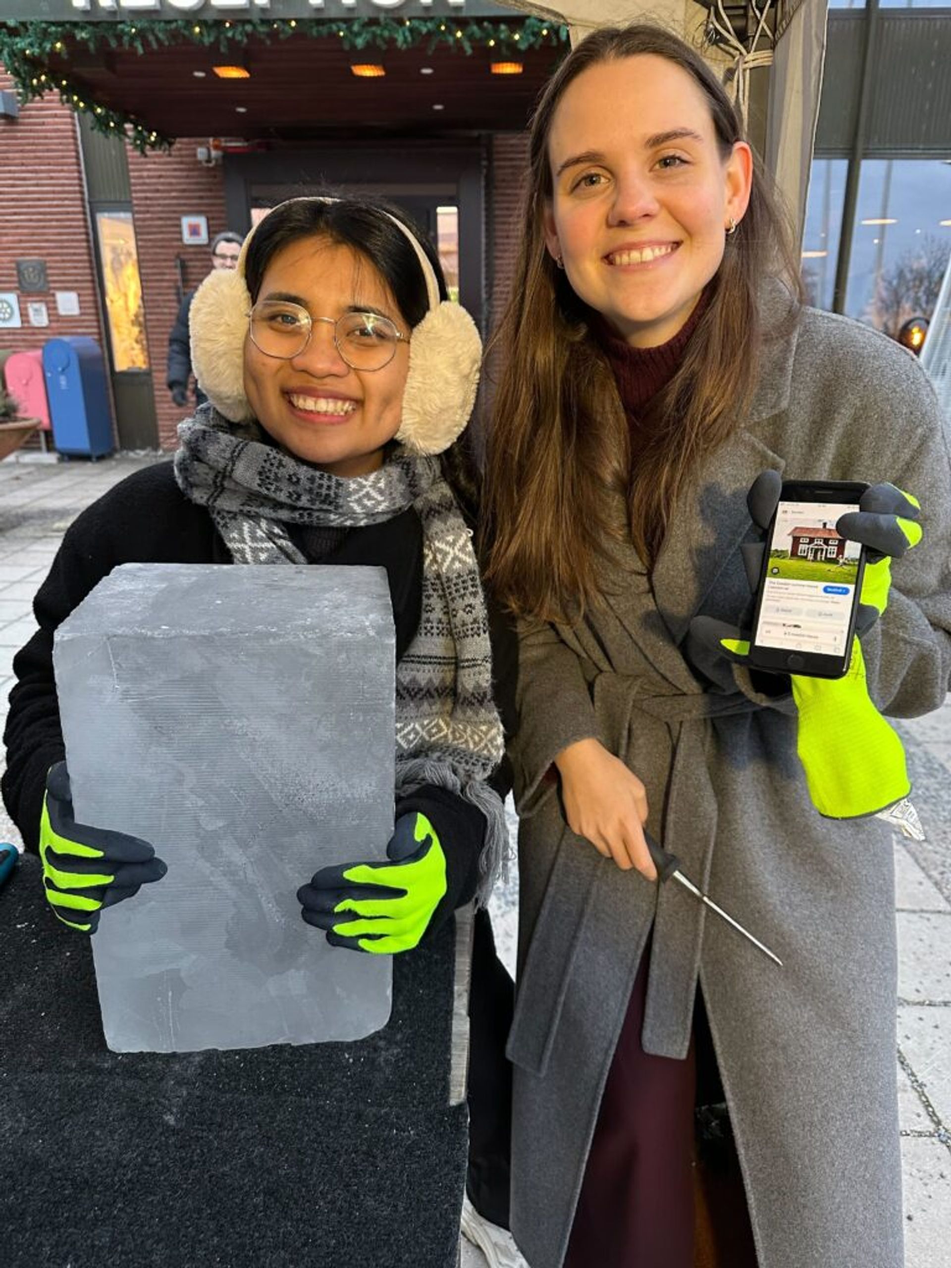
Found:
<path fill-rule="evenodd" d="M 3 66 L 0 89 L 13 89 Z M 0 119 L 0 290 L 19 292 L 18 259 L 46 260 L 49 290 L 19 295 L 23 326 L 0 328 L 0 347 L 42 347 L 62 335 L 91 335 L 101 346 L 76 120 L 53 95 L 22 107 L 18 119 Z M 57 313 L 55 290 L 79 294 L 77 317 Z M 30 326 L 30 301 L 46 303 L 48 326 Z"/>

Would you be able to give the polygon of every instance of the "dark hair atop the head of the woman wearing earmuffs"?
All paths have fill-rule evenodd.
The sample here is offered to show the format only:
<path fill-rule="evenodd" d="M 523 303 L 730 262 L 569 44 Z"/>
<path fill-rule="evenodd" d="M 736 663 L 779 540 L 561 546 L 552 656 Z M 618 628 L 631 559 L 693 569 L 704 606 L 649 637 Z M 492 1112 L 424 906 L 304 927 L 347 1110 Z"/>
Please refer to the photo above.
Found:
<path fill-rule="evenodd" d="M 245 281 L 251 303 L 257 299 L 268 264 L 275 252 L 306 237 L 327 237 L 349 246 L 369 261 L 389 287 L 399 311 L 410 323 L 418 326 L 429 311 L 426 278 L 420 261 L 403 231 L 404 224 L 422 247 L 432 265 L 440 299 L 448 295 L 443 269 L 431 242 L 412 224 L 403 212 L 382 200 L 359 198 L 292 198 L 279 203 L 260 222 L 247 247 Z"/>

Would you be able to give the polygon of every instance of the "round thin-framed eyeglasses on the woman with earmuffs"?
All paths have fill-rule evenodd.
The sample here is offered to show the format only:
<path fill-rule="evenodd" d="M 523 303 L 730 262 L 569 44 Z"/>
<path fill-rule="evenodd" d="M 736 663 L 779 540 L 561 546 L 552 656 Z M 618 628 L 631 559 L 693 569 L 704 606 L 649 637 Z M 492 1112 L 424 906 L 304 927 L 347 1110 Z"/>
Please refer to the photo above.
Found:
<path fill-rule="evenodd" d="M 250 313 L 251 342 L 265 356 L 288 361 L 311 342 L 314 322 L 333 327 L 333 346 L 354 370 L 382 370 L 396 356 L 397 345 L 408 336 L 389 317 L 356 309 L 332 317 L 312 317 L 301 304 L 262 299 Z"/>

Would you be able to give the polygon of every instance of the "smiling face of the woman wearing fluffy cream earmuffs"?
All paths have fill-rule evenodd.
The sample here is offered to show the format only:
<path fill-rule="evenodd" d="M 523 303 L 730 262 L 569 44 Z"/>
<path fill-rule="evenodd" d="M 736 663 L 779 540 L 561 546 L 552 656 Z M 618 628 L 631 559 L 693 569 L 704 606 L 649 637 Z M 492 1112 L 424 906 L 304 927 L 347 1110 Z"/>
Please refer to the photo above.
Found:
<path fill-rule="evenodd" d="M 278 299 L 301 304 L 312 318 L 382 313 L 410 333 L 377 269 L 322 236 L 299 238 L 271 256 L 256 302 Z M 309 342 L 289 360 L 265 356 L 245 339 L 245 393 L 264 430 L 295 458 L 345 478 L 383 465 L 384 445 L 399 430 L 408 369 L 403 339 L 382 370 L 354 370 L 326 321 L 314 320 Z"/>

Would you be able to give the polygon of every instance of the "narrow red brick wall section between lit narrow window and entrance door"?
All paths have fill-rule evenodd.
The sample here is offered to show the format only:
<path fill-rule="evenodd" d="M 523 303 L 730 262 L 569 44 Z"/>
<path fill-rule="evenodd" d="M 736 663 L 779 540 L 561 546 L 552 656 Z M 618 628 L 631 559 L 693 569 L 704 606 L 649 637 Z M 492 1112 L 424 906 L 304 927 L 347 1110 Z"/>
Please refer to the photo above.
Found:
<path fill-rule="evenodd" d="M 128 155 L 148 361 L 162 449 L 175 448 L 175 427 L 189 412 L 172 404 L 165 387 L 169 331 L 179 311 L 175 259 L 184 260 L 186 288 L 197 287 L 210 269 L 209 247 L 186 246 L 181 241 L 181 217 L 207 216 L 209 241 L 232 227 L 224 222 L 222 167 L 203 167 L 195 158 L 199 145 L 207 146 L 208 137 L 181 137 L 171 153 L 143 156 L 129 151 Z M 245 226 L 235 228 L 242 232 Z"/>

